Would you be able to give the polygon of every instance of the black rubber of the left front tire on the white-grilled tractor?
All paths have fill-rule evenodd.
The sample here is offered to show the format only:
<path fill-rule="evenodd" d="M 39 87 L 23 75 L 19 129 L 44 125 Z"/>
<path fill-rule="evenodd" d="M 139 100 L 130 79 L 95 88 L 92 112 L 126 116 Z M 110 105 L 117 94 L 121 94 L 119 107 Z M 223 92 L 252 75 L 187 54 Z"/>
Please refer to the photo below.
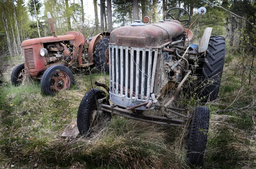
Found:
<path fill-rule="evenodd" d="M 99 89 L 91 89 L 84 95 L 77 112 L 77 127 L 80 135 L 88 135 L 93 131 L 92 127 L 90 126 L 91 125 L 90 115 L 93 109 L 97 108 L 95 107 L 97 106 L 96 99 L 101 99 L 105 96 L 106 96 L 105 92 Z M 103 103 L 109 104 L 107 100 L 104 100 Z M 101 117 L 104 121 L 110 120 L 111 113 L 109 112 L 103 112 L 103 113 L 104 115 L 99 117 Z"/>

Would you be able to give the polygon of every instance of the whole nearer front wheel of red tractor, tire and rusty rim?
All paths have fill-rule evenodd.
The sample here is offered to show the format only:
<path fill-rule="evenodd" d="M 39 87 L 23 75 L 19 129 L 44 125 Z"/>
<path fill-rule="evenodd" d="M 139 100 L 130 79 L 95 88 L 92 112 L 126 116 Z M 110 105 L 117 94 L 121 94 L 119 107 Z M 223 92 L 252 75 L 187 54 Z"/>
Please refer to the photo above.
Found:
<path fill-rule="evenodd" d="M 73 79 L 73 74 L 67 66 L 53 65 L 42 76 L 41 91 L 45 95 L 53 96 L 61 90 L 69 89 Z"/>

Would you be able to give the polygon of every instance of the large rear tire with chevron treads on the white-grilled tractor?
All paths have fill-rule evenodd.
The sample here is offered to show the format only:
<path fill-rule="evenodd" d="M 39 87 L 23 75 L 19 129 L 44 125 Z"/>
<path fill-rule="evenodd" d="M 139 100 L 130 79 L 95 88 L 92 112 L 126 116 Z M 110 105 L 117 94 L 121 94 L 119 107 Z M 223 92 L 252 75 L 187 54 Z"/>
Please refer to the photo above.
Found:
<path fill-rule="evenodd" d="M 201 73 L 200 89 L 201 101 L 215 100 L 221 84 L 221 77 L 224 67 L 226 52 L 225 38 L 221 36 L 212 36 L 209 40 L 209 46 L 206 51 Z"/>

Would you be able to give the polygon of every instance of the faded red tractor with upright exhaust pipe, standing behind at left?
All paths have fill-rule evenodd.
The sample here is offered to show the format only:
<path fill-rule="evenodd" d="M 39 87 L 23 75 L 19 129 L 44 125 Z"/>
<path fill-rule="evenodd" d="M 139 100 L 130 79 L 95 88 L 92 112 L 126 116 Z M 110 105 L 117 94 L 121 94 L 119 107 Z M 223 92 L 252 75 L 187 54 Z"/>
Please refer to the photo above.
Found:
<path fill-rule="evenodd" d="M 96 66 L 99 70 L 109 71 L 106 59 L 110 33 L 104 32 L 88 39 L 75 31 L 56 36 L 51 14 L 47 14 L 53 37 L 27 39 L 21 43 L 24 63 L 13 69 L 13 85 L 18 85 L 24 77 L 33 77 L 41 80 L 44 94 L 55 95 L 69 89 L 73 83 L 70 68 Z"/>

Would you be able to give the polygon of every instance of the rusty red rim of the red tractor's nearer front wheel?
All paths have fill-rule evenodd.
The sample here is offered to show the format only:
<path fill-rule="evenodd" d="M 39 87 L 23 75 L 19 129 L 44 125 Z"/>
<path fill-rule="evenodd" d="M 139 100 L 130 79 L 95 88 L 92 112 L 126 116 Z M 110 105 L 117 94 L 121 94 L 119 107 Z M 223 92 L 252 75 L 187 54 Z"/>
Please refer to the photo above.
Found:
<path fill-rule="evenodd" d="M 56 72 L 52 75 L 50 89 L 53 94 L 70 88 L 70 77 L 66 72 Z"/>

